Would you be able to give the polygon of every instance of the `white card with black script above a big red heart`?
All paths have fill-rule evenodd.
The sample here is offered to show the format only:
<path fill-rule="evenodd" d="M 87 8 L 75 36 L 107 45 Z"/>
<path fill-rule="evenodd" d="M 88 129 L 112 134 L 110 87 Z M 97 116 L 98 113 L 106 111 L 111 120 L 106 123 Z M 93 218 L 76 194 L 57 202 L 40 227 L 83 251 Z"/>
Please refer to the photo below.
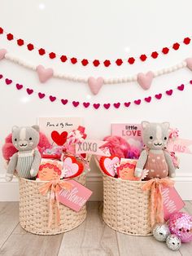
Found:
<path fill-rule="evenodd" d="M 83 125 L 83 119 L 80 117 L 39 117 L 38 125 L 50 143 L 63 146 L 68 133 Z"/>

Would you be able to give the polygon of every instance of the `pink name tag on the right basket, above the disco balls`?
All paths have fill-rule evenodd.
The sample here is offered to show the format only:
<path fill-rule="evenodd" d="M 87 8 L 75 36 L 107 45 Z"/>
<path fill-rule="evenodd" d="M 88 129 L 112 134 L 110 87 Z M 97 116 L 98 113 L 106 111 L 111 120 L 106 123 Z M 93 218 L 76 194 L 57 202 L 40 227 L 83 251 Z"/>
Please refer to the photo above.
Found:
<path fill-rule="evenodd" d="M 181 210 L 185 203 L 174 187 L 163 188 L 162 196 L 164 200 L 164 219 L 167 221 L 170 215 Z"/>

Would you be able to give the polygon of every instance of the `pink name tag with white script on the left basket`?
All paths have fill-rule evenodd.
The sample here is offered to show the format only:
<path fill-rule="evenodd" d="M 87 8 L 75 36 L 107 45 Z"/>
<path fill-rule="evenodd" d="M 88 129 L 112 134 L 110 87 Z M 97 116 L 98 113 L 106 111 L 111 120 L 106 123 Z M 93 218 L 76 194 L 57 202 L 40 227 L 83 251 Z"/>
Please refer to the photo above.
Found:
<path fill-rule="evenodd" d="M 92 191 L 73 179 L 68 180 L 68 183 L 72 184 L 72 189 L 69 191 L 65 189 L 61 190 L 59 192 L 59 201 L 63 205 L 66 205 L 72 210 L 78 212 L 81 210 L 83 205 L 85 205 L 85 202 L 88 201 Z"/>

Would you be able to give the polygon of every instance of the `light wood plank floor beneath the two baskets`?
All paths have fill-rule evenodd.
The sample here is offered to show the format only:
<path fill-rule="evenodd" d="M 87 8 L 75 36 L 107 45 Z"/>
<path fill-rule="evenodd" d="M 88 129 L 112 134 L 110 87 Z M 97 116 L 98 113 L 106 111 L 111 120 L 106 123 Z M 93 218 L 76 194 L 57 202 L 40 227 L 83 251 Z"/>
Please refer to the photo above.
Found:
<path fill-rule="evenodd" d="M 192 202 L 186 202 L 185 211 L 192 214 Z M 0 202 L 0 255 L 192 255 L 192 242 L 172 252 L 152 236 L 127 236 L 113 231 L 103 223 L 101 214 L 102 203 L 89 202 L 88 216 L 80 227 L 57 236 L 37 236 L 20 227 L 17 202 Z"/>

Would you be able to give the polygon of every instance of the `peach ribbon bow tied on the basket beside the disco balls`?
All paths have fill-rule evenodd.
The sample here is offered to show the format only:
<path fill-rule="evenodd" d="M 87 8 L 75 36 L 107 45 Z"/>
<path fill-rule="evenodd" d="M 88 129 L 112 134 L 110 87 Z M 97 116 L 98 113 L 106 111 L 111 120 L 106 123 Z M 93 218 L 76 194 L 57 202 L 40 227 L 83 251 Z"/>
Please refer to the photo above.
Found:
<path fill-rule="evenodd" d="M 164 223 L 164 202 L 162 187 L 172 187 L 174 181 L 169 178 L 150 179 L 142 186 L 142 191 L 151 191 L 151 227 L 155 223 Z"/>

